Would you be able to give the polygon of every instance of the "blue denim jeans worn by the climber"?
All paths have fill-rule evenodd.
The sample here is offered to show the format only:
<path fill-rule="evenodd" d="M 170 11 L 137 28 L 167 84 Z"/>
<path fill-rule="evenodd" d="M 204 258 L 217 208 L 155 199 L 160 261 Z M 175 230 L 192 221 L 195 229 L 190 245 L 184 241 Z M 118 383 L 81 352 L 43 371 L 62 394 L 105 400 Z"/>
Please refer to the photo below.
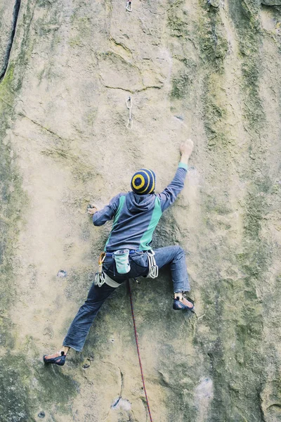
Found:
<path fill-rule="evenodd" d="M 145 252 L 135 252 L 129 255 L 131 270 L 127 274 L 118 274 L 115 260 L 112 256 L 105 257 L 103 271 L 110 276 L 110 279 L 123 283 L 126 279 L 133 279 L 139 276 L 148 275 L 148 256 Z M 174 283 L 174 293 L 189 291 L 188 271 L 185 263 L 185 252 L 180 246 L 167 246 L 155 250 L 155 260 L 159 268 L 170 264 L 171 278 Z M 77 312 L 67 332 L 63 345 L 81 352 L 86 336 L 93 324 L 105 299 L 111 295 L 115 288 L 103 284 L 98 287 L 92 284 L 86 302 Z"/>

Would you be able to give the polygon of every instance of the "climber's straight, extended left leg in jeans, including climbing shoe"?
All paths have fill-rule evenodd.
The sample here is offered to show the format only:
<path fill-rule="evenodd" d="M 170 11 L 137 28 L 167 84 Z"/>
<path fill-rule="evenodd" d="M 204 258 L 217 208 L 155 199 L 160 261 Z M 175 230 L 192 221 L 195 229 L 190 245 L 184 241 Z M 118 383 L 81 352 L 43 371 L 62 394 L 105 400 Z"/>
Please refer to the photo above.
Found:
<path fill-rule="evenodd" d="M 98 311 L 103 305 L 103 302 L 105 302 L 105 299 L 108 298 L 114 290 L 115 288 L 107 286 L 107 284 L 103 284 L 103 286 L 98 287 L 93 283 L 86 302 L 84 302 L 84 305 L 80 307 L 77 315 L 70 325 L 65 340 L 63 340 L 63 347 L 56 354 L 45 355 L 45 363 L 62 365 L 62 363 L 60 363 L 60 357 L 63 357 L 63 361 L 65 361 L 65 355 L 70 347 L 77 350 L 77 352 L 82 350 L 86 336 L 89 333 L 89 329 L 93 324 L 96 314 L 98 314 Z"/>

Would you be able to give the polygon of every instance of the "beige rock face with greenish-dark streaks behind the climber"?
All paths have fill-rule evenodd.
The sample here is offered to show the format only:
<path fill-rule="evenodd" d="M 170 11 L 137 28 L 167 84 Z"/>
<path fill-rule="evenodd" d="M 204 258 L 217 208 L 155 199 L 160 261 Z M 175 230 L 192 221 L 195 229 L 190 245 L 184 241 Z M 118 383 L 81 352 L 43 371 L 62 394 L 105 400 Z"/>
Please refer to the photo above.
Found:
<path fill-rule="evenodd" d="M 41 359 L 110 231 L 86 206 L 144 166 L 161 191 L 187 137 L 187 183 L 153 246 L 185 248 L 196 314 L 171 309 L 167 271 L 132 283 L 152 418 L 281 421 L 278 5 L 0 0 L 1 422 L 149 421 L 126 286 L 83 352 Z"/>

